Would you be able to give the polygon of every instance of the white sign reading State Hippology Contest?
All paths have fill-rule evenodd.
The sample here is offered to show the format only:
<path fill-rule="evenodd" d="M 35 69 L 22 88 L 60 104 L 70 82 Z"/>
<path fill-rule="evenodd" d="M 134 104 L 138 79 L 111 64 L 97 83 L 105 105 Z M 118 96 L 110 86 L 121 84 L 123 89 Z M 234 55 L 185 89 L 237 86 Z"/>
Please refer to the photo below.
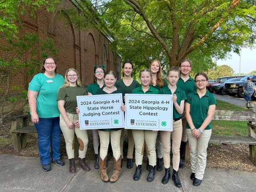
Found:
<path fill-rule="evenodd" d="M 172 95 L 125 94 L 125 128 L 172 131 Z"/>

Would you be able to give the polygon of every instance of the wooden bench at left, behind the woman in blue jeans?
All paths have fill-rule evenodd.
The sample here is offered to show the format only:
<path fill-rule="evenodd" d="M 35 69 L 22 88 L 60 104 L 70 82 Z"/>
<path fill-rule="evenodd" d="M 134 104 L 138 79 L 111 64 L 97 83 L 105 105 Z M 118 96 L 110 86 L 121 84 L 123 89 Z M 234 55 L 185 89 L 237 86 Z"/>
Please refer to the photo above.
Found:
<path fill-rule="evenodd" d="M 23 114 L 12 118 L 12 140 L 13 148 L 19 152 L 26 147 L 27 137 L 29 133 L 37 133 L 34 125 L 29 125 L 30 115 Z M 75 157 L 78 157 L 79 143 L 77 137 L 75 137 Z"/>

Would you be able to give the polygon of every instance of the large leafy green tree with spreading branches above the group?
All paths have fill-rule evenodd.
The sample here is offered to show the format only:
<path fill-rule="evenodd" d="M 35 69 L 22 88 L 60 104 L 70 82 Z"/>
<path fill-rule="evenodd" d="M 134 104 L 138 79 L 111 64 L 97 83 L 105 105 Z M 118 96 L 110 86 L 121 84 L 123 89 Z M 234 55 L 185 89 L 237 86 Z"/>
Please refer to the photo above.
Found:
<path fill-rule="evenodd" d="M 212 58 L 225 58 L 231 51 L 252 47 L 256 35 L 252 0 L 92 2 L 99 12 L 97 17 L 116 38 L 113 46 L 122 58 L 136 64 L 148 65 L 159 58 L 162 64 L 177 66 L 190 58 L 198 71 L 204 71 L 214 67 Z"/>

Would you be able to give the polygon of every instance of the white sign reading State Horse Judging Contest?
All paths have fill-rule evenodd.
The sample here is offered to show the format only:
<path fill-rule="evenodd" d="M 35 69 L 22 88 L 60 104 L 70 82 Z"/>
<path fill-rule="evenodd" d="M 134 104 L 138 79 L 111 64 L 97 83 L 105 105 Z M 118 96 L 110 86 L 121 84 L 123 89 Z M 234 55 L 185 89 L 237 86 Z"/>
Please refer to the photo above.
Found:
<path fill-rule="evenodd" d="M 122 93 L 76 96 L 80 129 L 124 128 Z"/>

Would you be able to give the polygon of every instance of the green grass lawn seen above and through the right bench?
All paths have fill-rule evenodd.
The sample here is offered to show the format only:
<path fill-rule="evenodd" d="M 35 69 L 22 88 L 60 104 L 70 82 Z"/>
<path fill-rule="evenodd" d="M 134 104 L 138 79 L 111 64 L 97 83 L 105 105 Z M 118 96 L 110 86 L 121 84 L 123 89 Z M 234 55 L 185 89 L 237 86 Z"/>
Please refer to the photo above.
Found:
<path fill-rule="evenodd" d="M 223 102 L 217 99 L 216 110 L 247 111 L 247 108 Z M 248 136 L 247 122 L 212 120 L 213 135 Z"/>

